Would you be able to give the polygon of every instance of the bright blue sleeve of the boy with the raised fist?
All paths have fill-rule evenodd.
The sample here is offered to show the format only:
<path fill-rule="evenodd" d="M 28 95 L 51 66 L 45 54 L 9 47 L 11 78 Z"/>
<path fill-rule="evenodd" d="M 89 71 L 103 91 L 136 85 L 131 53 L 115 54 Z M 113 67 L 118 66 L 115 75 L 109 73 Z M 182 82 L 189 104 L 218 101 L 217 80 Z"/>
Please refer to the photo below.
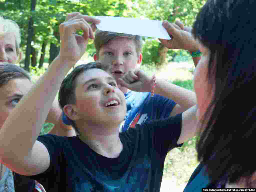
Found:
<path fill-rule="evenodd" d="M 153 102 L 153 110 L 156 110 L 157 112 L 156 119 L 163 119 L 169 117 L 170 113 L 176 105 L 176 102 L 174 102 L 172 99 L 168 99 L 158 94 L 154 95 Z"/>

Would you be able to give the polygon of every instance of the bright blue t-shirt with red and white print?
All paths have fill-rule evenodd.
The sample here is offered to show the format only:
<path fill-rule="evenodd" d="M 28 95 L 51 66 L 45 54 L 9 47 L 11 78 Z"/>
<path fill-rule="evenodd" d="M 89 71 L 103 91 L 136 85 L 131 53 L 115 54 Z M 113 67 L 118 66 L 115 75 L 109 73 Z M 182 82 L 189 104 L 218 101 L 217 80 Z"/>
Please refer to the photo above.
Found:
<path fill-rule="evenodd" d="M 123 123 L 120 125 L 120 132 L 149 120 L 167 118 L 176 105 L 173 100 L 158 94 L 151 97 L 149 92 L 129 91 L 124 95 L 127 112 Z"/>

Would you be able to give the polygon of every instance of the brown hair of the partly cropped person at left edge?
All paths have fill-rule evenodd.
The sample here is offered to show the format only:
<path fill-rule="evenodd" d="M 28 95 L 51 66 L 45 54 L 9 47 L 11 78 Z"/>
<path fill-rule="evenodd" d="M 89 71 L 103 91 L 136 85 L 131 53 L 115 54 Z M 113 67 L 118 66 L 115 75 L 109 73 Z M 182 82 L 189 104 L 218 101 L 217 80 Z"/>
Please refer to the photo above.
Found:
<path fill-rule="evenodd" d="M 19 66 L 7 62 L 0 63 L 0 87 L 19 78 L 31 80 L 28 72 Z"/>

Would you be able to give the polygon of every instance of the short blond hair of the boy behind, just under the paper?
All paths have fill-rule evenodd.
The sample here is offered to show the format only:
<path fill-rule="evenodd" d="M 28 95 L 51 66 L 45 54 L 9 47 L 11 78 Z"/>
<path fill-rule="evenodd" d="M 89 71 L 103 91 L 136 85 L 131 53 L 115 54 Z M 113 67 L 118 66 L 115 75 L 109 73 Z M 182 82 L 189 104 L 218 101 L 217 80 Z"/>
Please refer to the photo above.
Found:
<path fill-rule="evenodd" d="M 129 39 L 133 39 L 133 41 L 135 42 L 136 52 L 137 52 L 138 56 L 141 54 L 141 52 L 142 52 L 142 37 L 141 36 L 97 30 L 95 32 L 95 38 L 94 38 L 96 55 L 99 56 L 100 47 L 102 45 L 105 45 L 110 40 L 116 39 L 118 37 L 126 37 Z"/>

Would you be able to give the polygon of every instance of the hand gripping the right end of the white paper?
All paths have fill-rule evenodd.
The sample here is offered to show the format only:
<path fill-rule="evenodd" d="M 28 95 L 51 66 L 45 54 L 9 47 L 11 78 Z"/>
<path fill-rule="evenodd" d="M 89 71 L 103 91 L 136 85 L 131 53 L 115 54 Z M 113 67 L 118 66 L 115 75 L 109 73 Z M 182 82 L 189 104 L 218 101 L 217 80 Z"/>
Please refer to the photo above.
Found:
<path fill-rule="evenodd" d="M 192 52 L 199 50 L 199 45 L 191 34 L 191 27 L 184 27 L 184 24 L 180 21 L 176 21 L 175 23 L 164 21 L 163 26 L 172 38 L 170 40 L 159 39 L 165 47 L 169 49 L 184 49 Z"/>

